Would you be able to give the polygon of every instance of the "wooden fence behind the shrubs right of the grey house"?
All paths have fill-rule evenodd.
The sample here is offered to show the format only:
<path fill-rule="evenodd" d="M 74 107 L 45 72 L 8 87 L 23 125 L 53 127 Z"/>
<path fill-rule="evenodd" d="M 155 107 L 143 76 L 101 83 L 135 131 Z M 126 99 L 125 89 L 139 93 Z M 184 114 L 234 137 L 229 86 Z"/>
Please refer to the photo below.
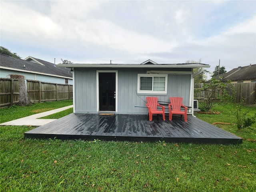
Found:
<path fill-rule="evenodd" d="M 204 91 L 200 91 L 203 83 L 194 84 L 194 99 L 204 99 Z M 235 83 L 236 101 L 239 102 L 241 98 L 245 98 L 244 104 L 255 104 L 256 102 L 256 82 L 250 83 Z"/>

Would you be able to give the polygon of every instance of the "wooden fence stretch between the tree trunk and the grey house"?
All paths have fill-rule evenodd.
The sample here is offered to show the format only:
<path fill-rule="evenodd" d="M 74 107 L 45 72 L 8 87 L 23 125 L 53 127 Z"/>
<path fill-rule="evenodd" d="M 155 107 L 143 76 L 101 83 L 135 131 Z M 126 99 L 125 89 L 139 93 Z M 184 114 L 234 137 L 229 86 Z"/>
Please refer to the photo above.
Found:
<path fill-rule="evenodd" d="M 58 101 L 73 98 L 73 86 L 27 80 L 30 102 Z"/>

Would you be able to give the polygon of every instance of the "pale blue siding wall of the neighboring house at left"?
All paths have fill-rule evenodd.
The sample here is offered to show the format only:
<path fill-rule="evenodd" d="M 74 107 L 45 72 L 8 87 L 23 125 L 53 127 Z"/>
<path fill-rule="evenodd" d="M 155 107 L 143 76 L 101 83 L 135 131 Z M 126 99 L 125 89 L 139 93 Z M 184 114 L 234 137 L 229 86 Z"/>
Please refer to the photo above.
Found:
<path fill-rule="evenodd" d="M 23 75 L 23 76 L 25 76 L 25 79 L 28 79 L 28 80 L 37 80 L 37 81 L 42 81 L 42 82 L 65 84 L 65 78 L 61 78 L 61 77 L 47 76 L 47 75 L 27 73 L 27 72 L 20 72 L 20 71 L 15 71 L 15 70 L 6 70 L 6 69 L 1 69 L 0 70 L 0 78 L 10 78 L 10 76 L 9 76 L 10 74 Z M 68 84 L 72 85 L 73 80 L 68 79 Z"/>

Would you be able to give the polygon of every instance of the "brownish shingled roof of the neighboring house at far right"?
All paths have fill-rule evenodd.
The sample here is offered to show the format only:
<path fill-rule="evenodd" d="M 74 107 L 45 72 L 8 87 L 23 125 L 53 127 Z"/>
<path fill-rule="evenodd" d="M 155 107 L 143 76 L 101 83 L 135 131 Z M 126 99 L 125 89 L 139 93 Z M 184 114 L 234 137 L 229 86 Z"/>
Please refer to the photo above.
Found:
<path fill-rule="evenodd" d="M 256 64 L 248 65 L 238 68 L 234 68 L 225 74 L 220 74 L 215 76 L 215 79 L 220 79 L 222 77 L 222 81 L 226 82 L 228 80 L 231 81 L 245 81 L 245 80 L 256 80 Z"/>

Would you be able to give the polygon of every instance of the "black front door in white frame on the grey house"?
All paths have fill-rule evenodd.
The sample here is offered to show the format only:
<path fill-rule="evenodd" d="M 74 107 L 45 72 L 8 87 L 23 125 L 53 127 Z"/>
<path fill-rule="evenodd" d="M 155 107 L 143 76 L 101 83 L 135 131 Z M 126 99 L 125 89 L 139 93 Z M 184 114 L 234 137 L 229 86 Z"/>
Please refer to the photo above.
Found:
<path fill-rule="evenodd" d="M 99 73 L 100 111 L 116 111 L 116 73 Z"/>

